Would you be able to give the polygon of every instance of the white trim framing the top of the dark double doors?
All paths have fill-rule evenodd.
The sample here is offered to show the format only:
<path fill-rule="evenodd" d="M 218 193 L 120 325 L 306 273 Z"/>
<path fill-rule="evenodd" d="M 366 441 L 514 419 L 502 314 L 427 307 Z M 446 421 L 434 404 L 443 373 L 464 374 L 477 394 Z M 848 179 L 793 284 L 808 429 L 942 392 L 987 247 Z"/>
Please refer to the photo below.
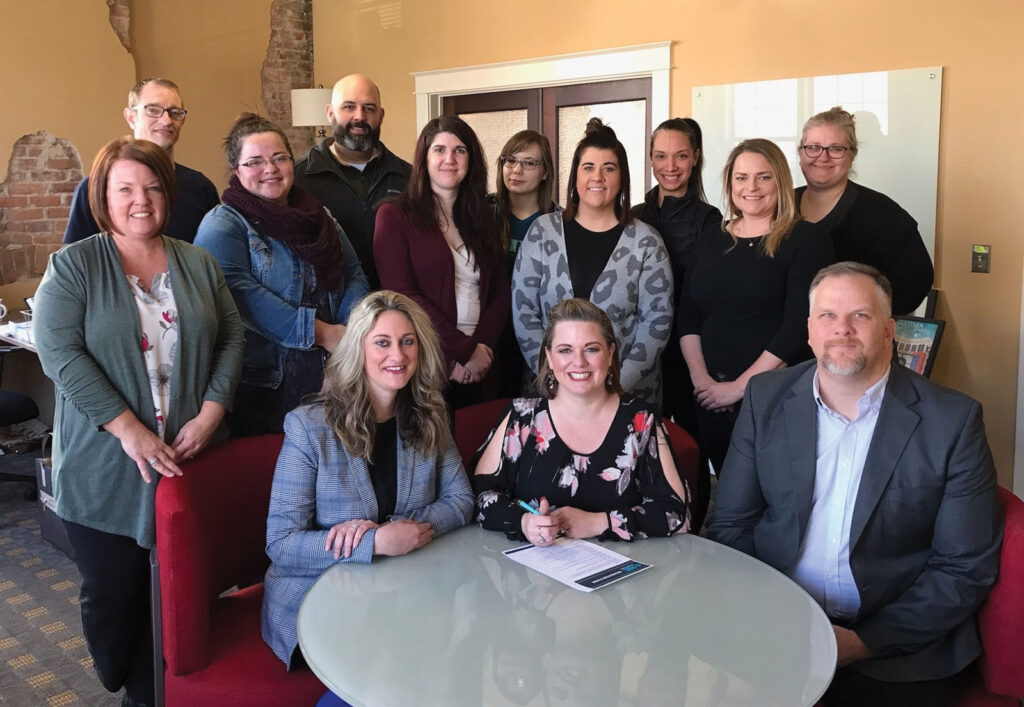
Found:
<path fill-rule="evenodd" d="M 540 86 L 650 77 L 651 125 L 670 116 L 669 72 L 672 42 L 636 44 L 475 67 L 413 72 L 416 83 L 416 134 L 441 115 L 441 100 L 462 93 L 487 93 Z"/>

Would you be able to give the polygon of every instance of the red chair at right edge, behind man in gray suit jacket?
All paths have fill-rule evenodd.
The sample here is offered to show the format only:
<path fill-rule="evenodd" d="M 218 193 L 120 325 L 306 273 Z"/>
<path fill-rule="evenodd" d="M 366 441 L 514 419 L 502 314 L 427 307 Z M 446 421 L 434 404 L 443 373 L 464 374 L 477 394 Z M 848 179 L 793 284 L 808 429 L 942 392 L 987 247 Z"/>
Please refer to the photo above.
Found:
<path fill-rule="evenodd" d="M 1024 700 L 1024 501 L 1000 487 L 999 503 L 999 578 L 978 611 L 981 658 L 958 685 L 957 707 L 1020 707 Z"/>

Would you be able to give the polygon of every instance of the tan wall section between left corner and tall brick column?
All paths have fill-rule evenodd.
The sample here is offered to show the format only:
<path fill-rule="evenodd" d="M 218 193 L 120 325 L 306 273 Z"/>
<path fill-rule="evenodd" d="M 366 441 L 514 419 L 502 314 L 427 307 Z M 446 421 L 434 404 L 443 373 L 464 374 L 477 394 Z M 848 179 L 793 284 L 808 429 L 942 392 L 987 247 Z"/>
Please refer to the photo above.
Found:
<path fill-rule="evenodd" d="M 132 3 L 139 77 L 181 88 L 188 116 L 174 159 L 227 185 L 221 140 L 243 111 L 266 115 L 260 68 L 270 40 L 270 0 L 148 0 Z"/>

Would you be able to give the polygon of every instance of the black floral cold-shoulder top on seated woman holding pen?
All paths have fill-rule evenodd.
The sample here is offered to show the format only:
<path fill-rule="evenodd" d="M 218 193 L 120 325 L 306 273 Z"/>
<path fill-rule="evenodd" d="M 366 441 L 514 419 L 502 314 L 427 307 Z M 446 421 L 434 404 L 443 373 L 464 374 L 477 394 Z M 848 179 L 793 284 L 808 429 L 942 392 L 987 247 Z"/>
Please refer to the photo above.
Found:
<path fill-rule="evenodd" d="M 601 446 L 591 454 L 578 454 L 558 435 L 547 400 L 513 401 L 498 468 L 471 476 L 476 519 L 487 530 L 522 540 L 520 523 L 526 511 L 516 501 L 537 506 L 546 497 L 552 508 L 606 512 L 608 530 L 601 540 L 631 541 L 688 531 L 689 489 L 683 481 L 686 498 L 681 499 L 669 486 L 658 458 L 655 425 L 660 420 L 650 406 L 624 397 Z M 492 431 L 487 442 L 498 431 Z"/>

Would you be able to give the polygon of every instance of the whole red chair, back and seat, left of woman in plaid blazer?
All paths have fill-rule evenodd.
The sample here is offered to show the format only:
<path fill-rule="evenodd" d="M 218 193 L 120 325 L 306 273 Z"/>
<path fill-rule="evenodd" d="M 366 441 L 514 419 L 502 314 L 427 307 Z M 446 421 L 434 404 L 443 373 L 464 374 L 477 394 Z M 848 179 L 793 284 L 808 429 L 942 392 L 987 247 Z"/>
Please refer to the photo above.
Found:
<path fill-rule="evenodd" d="M 168 707 L 282 707 L 313 705 L 324 694 L 308 668 L 289 673 L 260 636 L 266 513 L 282 442 L 233 440 L 157 487 L 154 633 L 166 662 L 158 704 L 162 696 Z M 234 586 L 244 588 L 221 596 Z"/>

